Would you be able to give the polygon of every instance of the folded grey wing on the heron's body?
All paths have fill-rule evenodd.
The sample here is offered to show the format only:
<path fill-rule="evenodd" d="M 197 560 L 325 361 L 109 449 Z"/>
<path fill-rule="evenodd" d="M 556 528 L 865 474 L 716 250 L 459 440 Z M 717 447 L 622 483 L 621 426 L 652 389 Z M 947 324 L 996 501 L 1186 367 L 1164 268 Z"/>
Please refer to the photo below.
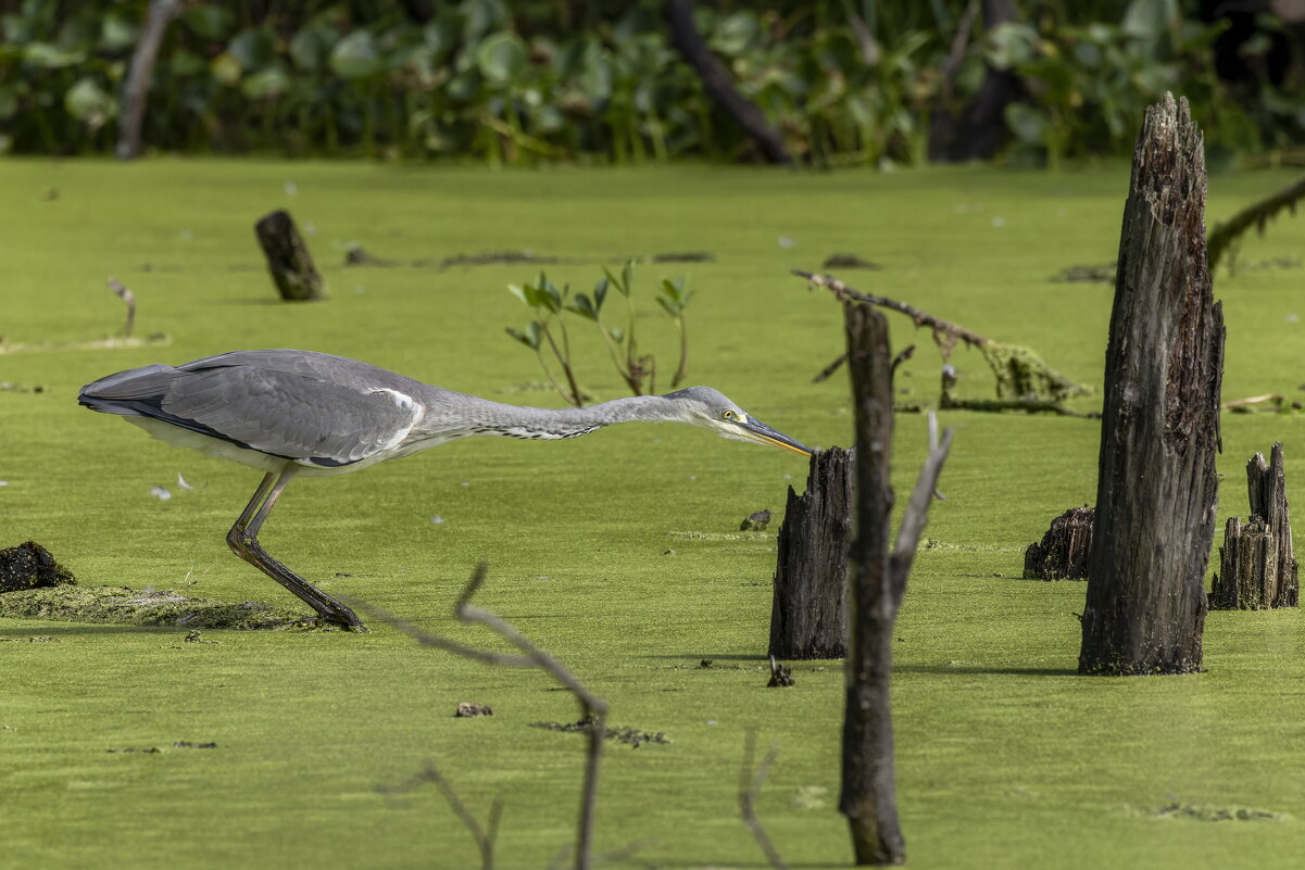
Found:
<path fill-rule="evenodd" d="M 398 390 L 244 365 L 187 372 L 159 407 L 228 441 L 321 466 L 397 445 L 422 416 Z"/>

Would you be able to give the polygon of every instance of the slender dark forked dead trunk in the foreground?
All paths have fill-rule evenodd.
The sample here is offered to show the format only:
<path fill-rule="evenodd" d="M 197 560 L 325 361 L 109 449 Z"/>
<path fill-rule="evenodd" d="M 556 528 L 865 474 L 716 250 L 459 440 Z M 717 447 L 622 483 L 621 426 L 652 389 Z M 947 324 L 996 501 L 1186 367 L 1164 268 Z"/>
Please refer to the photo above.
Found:
<path fill-rule="evenodd" d="M 887 323 L 870 305 L 844 303 L 847 363 L 856 412 L 856 540 L 848 570 L 847 694 L 843 712 L 843 779 L 838 809 L 847 817 L 856 863 L 906 861 L 898 824 L 893 768 L 889 676 L 893 625 L 933 498 L 951 430 L 936 443 L 929 419 L 929 458 L 902 517 L 897 543 L 889 539 L 893 484 L 893 357 Z"/>

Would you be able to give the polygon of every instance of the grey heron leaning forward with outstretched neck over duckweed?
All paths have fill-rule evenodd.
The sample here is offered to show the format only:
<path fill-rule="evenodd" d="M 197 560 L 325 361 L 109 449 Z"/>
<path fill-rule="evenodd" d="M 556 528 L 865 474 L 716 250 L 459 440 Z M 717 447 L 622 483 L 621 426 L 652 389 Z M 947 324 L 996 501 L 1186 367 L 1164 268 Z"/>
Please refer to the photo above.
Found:
<path fill-rule="evenodd" d="M 529 408 L 312 351 L 235 351 L 176 367 L 145 365 L 87 383 L 77 400 L 120 415 L 161 441 L 262 471 L 262 481 L 227 532 L 227 545 L 303 599 L 321 621 L 352 630 L 364 629 L 348 607 L 258 543 L 268 514 L 295 477 L 358 471 L 468 436 L 576 438 L 636 420 L 688 423 L 727 438 L 810 454 L 705 386 L 585 408 Z"/>

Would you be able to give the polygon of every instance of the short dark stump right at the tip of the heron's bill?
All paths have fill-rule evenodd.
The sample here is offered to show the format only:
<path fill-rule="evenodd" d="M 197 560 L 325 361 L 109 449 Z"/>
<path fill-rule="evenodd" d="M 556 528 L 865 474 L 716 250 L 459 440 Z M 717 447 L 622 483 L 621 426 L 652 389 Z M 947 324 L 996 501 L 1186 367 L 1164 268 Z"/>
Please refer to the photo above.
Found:
<path fill-rule="evenodd" d="M 852 539 L 853 473 L 856 454 L 830 447 L 812 454 L 801 496 L 788 488 L 770 608 L 769 655 L 775 659 L 847 655 L 847 547 Z"/>

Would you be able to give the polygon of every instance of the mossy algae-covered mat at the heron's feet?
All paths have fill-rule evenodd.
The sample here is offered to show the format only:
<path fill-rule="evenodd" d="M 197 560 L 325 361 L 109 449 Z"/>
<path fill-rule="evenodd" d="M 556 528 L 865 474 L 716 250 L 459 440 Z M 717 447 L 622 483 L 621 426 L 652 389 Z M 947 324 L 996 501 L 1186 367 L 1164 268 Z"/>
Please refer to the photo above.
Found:
<path fill-rule="evenodd" d="M 55 586 L 0 595 L 0 617 L 68 620 L 184 629 L 283 630 L 317 627 L 315 617 L 278 610 L 258 601 L 231 604 L 192 599 L 171 590 L 125 586 Z"/>

